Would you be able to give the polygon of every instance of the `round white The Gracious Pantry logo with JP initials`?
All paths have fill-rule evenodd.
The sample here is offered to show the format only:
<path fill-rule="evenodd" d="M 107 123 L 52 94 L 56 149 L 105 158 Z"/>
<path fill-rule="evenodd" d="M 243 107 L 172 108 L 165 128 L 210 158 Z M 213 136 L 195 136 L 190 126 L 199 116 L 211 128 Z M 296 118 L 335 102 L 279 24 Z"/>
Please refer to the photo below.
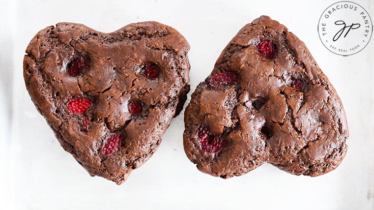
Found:
<path fill-rule="evenodd" d="M 361 51 L 369 43 L 372 22 L 369 14 L 353 2 L 337 2 L 328 7 L 318 22 L 318 34 L 325 47 L 343 56 Z"/>

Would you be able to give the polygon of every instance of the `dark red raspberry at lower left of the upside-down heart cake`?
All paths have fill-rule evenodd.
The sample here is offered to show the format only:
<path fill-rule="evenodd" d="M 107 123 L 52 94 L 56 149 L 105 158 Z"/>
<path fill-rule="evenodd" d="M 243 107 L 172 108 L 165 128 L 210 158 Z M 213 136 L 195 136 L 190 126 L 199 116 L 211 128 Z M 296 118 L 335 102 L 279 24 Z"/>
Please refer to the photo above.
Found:
<path fill-rule="evenodd" d="M 206 153 L 218 153 L 226 145 L 226 141 L 216 135 L 210 135 L 206 126 L 197 129 L 197 137 L 200 139 L 202 150 Z"/>

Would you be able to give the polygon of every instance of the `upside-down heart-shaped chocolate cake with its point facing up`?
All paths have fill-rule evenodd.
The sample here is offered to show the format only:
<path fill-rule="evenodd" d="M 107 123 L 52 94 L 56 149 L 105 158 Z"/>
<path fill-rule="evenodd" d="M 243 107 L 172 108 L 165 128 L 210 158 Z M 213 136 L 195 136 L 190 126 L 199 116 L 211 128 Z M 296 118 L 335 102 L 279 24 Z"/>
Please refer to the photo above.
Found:
<path fill-rule="evenodd" d="M 222 178 L 265 162 L 322 175 L 346 155 L 348 135 L 334 87 L 304 43 L 267 16 L 232 39 L 185 111 L 187 157 Z"/>

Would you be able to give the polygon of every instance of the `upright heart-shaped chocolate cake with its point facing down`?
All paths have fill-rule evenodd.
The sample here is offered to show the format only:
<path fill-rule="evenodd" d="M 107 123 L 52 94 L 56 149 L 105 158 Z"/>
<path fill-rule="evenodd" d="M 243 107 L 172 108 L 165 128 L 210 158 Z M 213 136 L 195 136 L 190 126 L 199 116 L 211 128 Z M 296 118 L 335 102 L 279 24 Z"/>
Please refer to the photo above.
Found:
<path fill-rule="evenodd" d="M 28 45 L 24 80 L 64 149 L 92 176 L 121 184 L 183 108 L 188 50 L 181 34 L 158 22 L 109 34 L 58 23 Z"/>

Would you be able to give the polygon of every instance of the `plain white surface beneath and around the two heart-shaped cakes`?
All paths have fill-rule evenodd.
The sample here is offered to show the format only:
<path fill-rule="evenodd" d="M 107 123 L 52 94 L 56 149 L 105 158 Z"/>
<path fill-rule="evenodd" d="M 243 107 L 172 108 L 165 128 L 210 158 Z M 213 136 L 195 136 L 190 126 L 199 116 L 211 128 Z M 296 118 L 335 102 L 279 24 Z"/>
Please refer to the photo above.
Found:
<path fill-rule="evenodd" d="M 0 2 L 0 209 L 374 209 L 374 40 L 348 57 L 322 45 L 318 20 L 337 0 Z M 374 18 L 372 0 L 355 2 Z M 183 151 L 182 112 L 154 156 L 117 186 L 91 177 L 62 149 L 24 86 L 24 50 L 40 29 L 68 21 L 111 32 L 156 20 L 191 45 L 193 91 L 229 40 L 263 14 L 305 42 L 346 110 L 347 156 L 323 176 L 295 176 L 270 164 L 226 180 L 199 172 Z"/>

